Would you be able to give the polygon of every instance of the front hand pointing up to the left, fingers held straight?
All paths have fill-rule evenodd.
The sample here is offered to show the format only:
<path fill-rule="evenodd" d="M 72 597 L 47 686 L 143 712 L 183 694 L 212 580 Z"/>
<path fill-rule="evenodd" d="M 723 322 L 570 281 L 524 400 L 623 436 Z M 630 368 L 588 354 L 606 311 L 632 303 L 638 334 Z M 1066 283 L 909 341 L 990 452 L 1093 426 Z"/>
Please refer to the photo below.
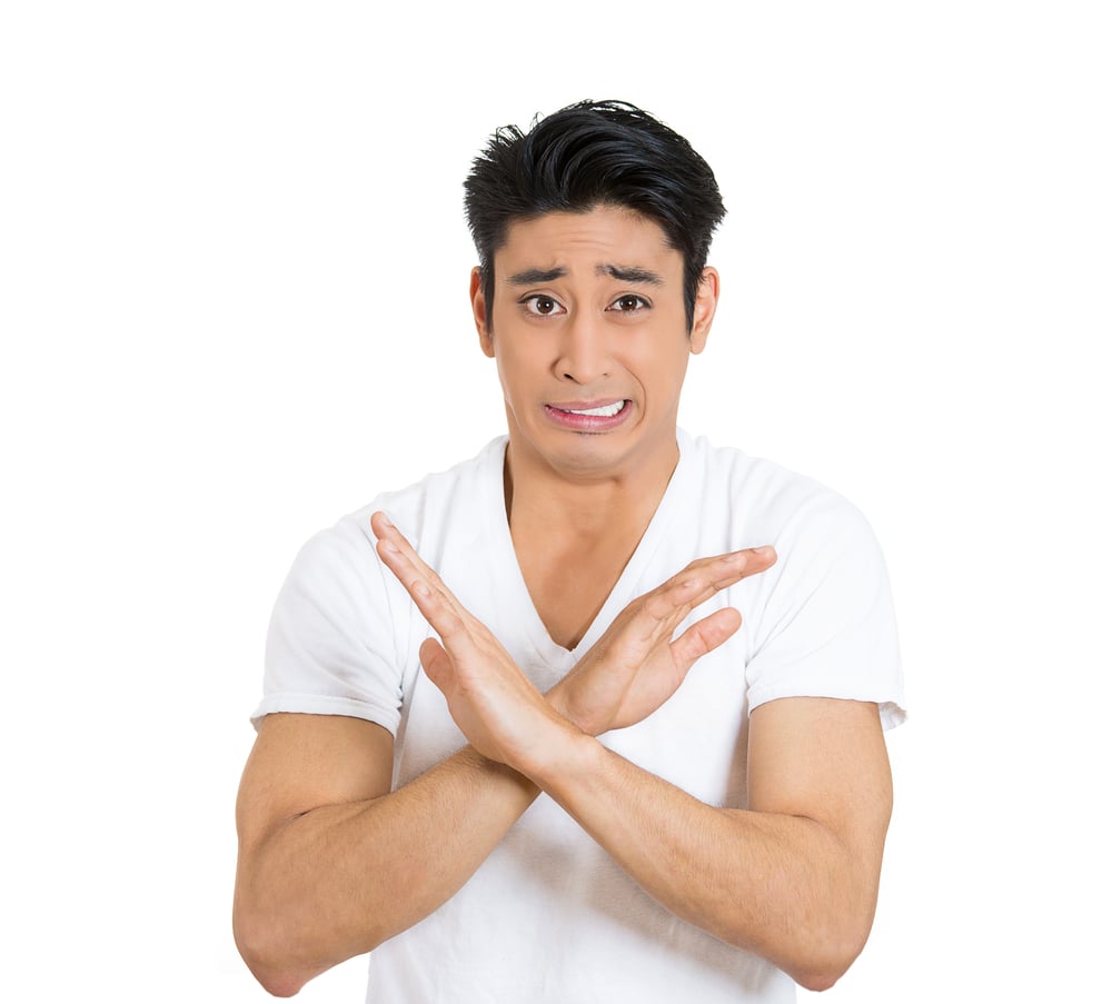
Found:
<path fill-rule="evenodd" d="M 554 730 L 575 732 L 522 673 L 509 653 L 451 594 L 384 513 L 370 518 L 378 556 L 440 636 L 426 638 L 420 662 L 443 692 L 467 740 L 484 756 L 530 775 Z"/>

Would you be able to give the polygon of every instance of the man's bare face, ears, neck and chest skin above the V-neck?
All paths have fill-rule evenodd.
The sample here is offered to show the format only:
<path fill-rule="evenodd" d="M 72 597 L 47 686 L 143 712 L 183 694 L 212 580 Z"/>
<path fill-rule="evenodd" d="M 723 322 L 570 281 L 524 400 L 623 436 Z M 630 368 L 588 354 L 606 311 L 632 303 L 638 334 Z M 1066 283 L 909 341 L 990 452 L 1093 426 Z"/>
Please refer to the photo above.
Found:
<path fill-rule="evenodd" d="M 494 268 L 494 302 L 476 269 L 471 307 L 505 397 L 510 536 L 542 620 L 574 648 L 679 459 L 679 395 L 718 275 L 704 270 L 688 331 L 683 257 L 656 223 L 615 207 L 512 226 Z M 554 415 L 616 401 L 619 423 L 597 431 Z"/>

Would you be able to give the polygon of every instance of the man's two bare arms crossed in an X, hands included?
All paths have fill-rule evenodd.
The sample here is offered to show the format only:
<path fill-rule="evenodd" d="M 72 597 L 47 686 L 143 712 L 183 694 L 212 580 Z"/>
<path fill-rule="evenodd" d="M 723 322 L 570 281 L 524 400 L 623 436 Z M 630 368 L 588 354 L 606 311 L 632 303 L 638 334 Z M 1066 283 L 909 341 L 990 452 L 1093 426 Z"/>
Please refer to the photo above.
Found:
<path fill-rule="evenodd" d="M 449 898 L 540 791 L 653 896 L 812 988 L 864 944 L 891 808 L 875 705 L 771 702 L 749 727 L 749 809 L 717 808 L 595 736 L 639 722 L 739 625 L 698 604 L 775 559 L 693 563 L 632 604 L 547 695 L 381 514 L 379 555 L 437 630 L 421 663 L 469 740 L 390 793 L 389 734 L 354 718 L 268 716 L 237 807 L 235 928 L 252 972 L 290 995 Z"/>

